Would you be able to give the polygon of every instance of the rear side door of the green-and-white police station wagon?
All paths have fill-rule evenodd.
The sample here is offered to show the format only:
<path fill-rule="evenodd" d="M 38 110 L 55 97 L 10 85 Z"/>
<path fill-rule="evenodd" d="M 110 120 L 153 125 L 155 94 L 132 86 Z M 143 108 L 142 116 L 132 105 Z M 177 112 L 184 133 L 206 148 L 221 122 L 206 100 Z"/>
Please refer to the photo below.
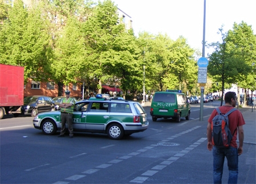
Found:
<path fill-rule="evenodd" d="M 109 121 L 109 103 L 91 102 L 90 109 L 86 115 L 87 130 L 104 130 L 105 124 Z"/>

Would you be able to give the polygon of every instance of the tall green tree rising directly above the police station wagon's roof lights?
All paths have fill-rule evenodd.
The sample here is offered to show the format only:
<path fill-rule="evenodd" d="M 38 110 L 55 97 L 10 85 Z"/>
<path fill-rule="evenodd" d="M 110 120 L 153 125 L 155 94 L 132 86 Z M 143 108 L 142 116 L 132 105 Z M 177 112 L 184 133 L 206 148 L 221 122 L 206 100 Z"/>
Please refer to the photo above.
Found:
<path fill-rule="evenodd" d="M 124 31 L 124 25 L 118 24 L 117 6 L 114 6 L 110 0 L 98 2 L 91 16 L 83 24 L 86 58 L 89 63 L 87 72 L 90 73 L 91 78 L 98 80 L 99 93 L 101 93 L 102 81 L 112 77 L 103 72 L 106 71 L 104 62 L 115 62 L 113 59 L 115 58 L 113 52 L 117 50 L 115 44 Z M 108 57 L 110 53 L 113 54 L 112 59 Z"/>

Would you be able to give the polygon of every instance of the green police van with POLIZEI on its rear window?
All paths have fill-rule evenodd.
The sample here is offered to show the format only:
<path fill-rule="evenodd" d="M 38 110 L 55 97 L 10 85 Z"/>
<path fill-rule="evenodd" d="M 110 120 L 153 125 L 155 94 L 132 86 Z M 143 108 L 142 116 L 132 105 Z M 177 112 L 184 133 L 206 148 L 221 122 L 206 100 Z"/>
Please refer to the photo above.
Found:
<path fill-rule="evenodd" d="M 165 92 L 155 92 L 151 102 L 150 115 L 153 121 L 157 118 L 174 118 L 181 122 L 181 117 L 189 120 L 189 100 L 181 90 L 167 89 Z"/>

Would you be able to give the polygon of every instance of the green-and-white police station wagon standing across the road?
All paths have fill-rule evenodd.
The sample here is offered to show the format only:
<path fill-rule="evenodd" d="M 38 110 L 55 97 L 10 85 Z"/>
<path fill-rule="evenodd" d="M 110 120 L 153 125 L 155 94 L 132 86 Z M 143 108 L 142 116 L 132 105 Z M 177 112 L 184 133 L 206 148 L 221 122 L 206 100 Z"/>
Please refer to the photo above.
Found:
<path fill-rule="evenodd" d="M 39 113 L 33 124 L 44 134 L 55 134 L 61 130 L 61 112 Z M 148 126 L 146 112 L 136 101 L 110 100 L 97 95 L 75 103 L 74 132 L 104 133 L 119 140 L 125 135 L 143 132 Z"/>

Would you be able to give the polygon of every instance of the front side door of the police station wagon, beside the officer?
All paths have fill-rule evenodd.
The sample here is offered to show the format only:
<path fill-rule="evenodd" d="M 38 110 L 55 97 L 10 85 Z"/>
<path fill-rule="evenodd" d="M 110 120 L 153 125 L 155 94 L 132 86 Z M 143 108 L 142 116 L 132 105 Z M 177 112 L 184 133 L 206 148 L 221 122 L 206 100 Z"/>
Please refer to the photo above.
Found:
<path fill-rule="evenodd" d="M 86 129 L 86 116 L 89 102 L 77 103 L 73 112 L 73 129 L 83 132 Z"/>

